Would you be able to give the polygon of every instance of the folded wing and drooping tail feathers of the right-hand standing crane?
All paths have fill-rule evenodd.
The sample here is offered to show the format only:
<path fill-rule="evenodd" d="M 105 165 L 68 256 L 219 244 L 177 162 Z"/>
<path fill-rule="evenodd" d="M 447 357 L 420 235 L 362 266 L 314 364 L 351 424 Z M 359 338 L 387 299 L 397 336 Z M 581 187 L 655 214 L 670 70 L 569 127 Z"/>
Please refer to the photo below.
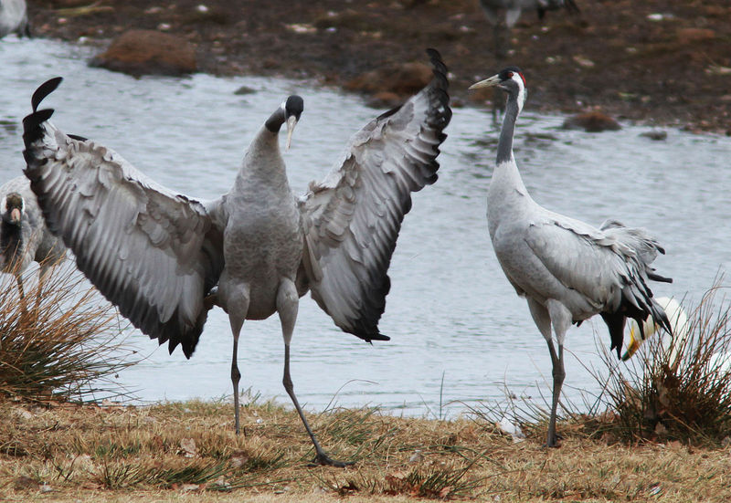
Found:
<path fill-rule="evenodd" d="M 614 221 L 596 229 L 563 215 L 551 215 L 556 218 L 531 225 L 525 241 L 553 278 L 567 288 L 562 301 L 569 309 L 586 302 L 588 309 L 599 310 L 609 327 L 611 349 L 616 349 L 618 356 L 627 318 L 641 324 L 652 316 L 663 328 L 672 330 L 648 286 L 649 279 L 672 281 L 655 274 L 651 266 L 657 254 L 664 253 L 654 237 Z"/>

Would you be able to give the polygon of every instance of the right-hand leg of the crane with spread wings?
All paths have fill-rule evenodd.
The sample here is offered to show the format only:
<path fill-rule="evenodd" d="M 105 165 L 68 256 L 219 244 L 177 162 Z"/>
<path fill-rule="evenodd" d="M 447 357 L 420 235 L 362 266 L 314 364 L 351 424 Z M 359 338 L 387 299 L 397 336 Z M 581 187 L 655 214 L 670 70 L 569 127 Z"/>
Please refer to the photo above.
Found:
<path fill-rule="evenodd" d="M 315 457 L 314 462 L 318 465 L 329 465 L 344 467 L 352 465 L 352 463 L 344 463 L 343 461 L 336 461 L 330 456 L 327 456 L 323 451 L 323 448 L 317 442 L 317 438 L 314 436 L 313 429 L 310 424 L 307 423 L 307 418 L 304 417 L 302 407 L 300 406 L 297 396 L 294 394 L 294 386 L 291 382 L 290 375 L 290 342 L 292 332 L 294 331 L 294 322 L 297 320 L 297 310 L 299 308 L 299 296 L 297 295 L 297 288 L 290 279 L 283 279 L 280 284 L 279 291 L 277 292 L 277 311 L 280 313 L 281 320 L 281 333 L 284 338 L 284 377 L 281 383 L 284 384 L 284 389 L 287 394 L 290 395 L 291 402 L 294 403 L 294 408 L 297 409 L 297 414 L 300 414 L 304 429 L 307 430 L 307 435 L 310 435 L 310 439 L 313 441 Z"/>

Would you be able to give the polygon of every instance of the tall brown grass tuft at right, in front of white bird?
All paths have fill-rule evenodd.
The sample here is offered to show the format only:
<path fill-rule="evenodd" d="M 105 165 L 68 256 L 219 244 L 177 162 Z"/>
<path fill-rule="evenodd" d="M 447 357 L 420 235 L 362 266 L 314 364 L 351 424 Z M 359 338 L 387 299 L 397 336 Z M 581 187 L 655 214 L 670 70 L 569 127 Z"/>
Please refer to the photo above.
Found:
<path fill-rule="evenodd" d="M 688 312 L 687 335 L 653 336 L 627 364 L 604 354 L 608 412 L 591 417 L 592 435 L 622 441 L 722 445 L 731 435 L 731 304 L 709 289 Z M 599 377 L 604 379 L 603 377 Z"/>

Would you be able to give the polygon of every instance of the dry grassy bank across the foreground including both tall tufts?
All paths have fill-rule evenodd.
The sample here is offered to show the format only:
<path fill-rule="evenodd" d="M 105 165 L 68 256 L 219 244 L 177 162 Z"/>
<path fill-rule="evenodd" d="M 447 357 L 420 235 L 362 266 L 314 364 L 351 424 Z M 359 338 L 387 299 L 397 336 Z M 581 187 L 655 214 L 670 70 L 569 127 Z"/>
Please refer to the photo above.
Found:
<path fill-rule="evenodd" d="M 571 420 L 559 424 L 564 439 L 558 449 L 542 448 L 546 426 L 537 407 L 472 411 L 451 421 L 394 417 L 374 408 L 310 414 L 328 452 L 355 463 L 340 469 L 312 466 L 313 447 L 297 414 L 276 403 L 261 403 L 258 397 L 243 406 L 242 435 L 238 436 L 233 433 L 228 403 L 134 407 L 109 401 L 99 405 L 37 399 L 56 398 L 58 390 L 77 395 L 88 388 L 90 376 L 98 376 L 100 368 L 109 369 L 110 362 L 120 362 L 111 358 L 116 351 L 101 352 L 101 367 L 90 358 L 92 353 L 100 355 L 98 348 L 90 349 L 90 340 L 115 340 L 99 335 L 106 333 L 113 317 L 111 312 L 94 310 L 99 303 L 90 302 L 88 293 L 79 294 L 78 287 L 72 284 L 69 292 L 77 293 L 65 297 L 63 288 L 49 285 L 40 309 L 32 308 L 30 302 L 0 309 L 0 327 L 6 330 L 0 354 L 22 354 L 16 361 L 26 362 L 26 367 L 4 363 L 5 367 L 27 368 L 30 376 L 45 376 L 48 371 L 38 370 L 34 362 L 44 358 L 58 361 L 48 356 L 60 354 L 48 351 L 57 347 L 54 344 L 64 351 L 76 348 L 74 351 L 86 356 L 80 359 L 82 368 L 90 365 L 89 371 L 71 372 L 74 379 L 65 383 L 58 379 L 66 371 L 54 372 L 52 375 L 58 373 L 58 377 L 49 380 L 26 378 L 23 372 L 16 372 L 16 381 L 22 385 L 16 384 L 10 393 L 5 384 L 5 399 L 0 399 L 0 500 L 308 503 L 343 498 L 350 502 L 731 499 L 727 475 L 731 473 L 731 445 L 718 440 L 729 420 L 727 394 L 718 391 L 721 388 L 710 377 L 704 381 L 705 371 L 700 370 L 708 362 L 705 352 L 726 347 L 728 339 L 728 309 L 713 308 L 712 300 L 706 299 L 694 313 L 687 348 L 678 351 L 680 364 L 673 379 L 681 384 L 670 390 L 665 380 L 664 392 L 660 390 L 666 397 L 673 396 L 675 405 L 685 404 L 688 410 L 697 411 L 702 404 L 704 410 L 714 411 L 710 423 L 696 421 L 686 429 L 703 431 L 702 437 L 677 434 L 679 424 L 691 424 L 688 416 L 675 421 L 683 411 L 678 406 L 668 409 L 662 393 L 645 392 L 642 387 L 650 390 L 660 382 L 657 372 L 664 367 L 658 354 L 657 364 L 652 363 L 655 370 L 649 374 L 653 377 L 637 374 L 642 376 L 640 384 L 632 389 L 639 391 L 632 392 L 631 397 L 626 394 L 626 378 L 609 386 L 613 390 L 609 396 L 615 402 L 609 401 L 608 413 L 591 417 L 568 414 Z M 12 300 L 7 289 L 5 296 Z M 28 298 L 35 299 L 33 295 Z M 78 332 L 76 339 L 69 335 L 69 328 Z M 9 361 L 7 356 L 3 358 L 2 362 Z M 664 366 L 669 367 L 667 362 Z M 715 375 L 717 381 L 717 374 L 709 375 Z M 20 395 L 24 393 L 36 398 L 23 400 Z M 706 403 L 706 399 L 715 402 Z M 659 409 L 658 403 L 664 408 Z M 632 406 L 640 408 L 628 408 Z M 677 436 L 657 435 L 656 426 L 651 428 L 652 435 L 644 435 L 651 430 L 640 420 L 648 420 L 649 410 L 657 414 L 653 421 L 662 422 Z M 498 412 L 509 412 L 506 415 L 513 420 L 523 417 L 528 438 L 516 442 L 504 434 L 491 419 Z M 694 417 L 698 415 L 702 414 Z M 630 422 L 632 417 L 637 418 L 637 424 Z M 659 444 L 661 437 L 677 437 L 682 442 Z M 636 442 L 640 438 L 642 442 Z M 696 441 L 698 438 L 702 441 Z M 620 439 L 630 442 L 618 442 Z"/>

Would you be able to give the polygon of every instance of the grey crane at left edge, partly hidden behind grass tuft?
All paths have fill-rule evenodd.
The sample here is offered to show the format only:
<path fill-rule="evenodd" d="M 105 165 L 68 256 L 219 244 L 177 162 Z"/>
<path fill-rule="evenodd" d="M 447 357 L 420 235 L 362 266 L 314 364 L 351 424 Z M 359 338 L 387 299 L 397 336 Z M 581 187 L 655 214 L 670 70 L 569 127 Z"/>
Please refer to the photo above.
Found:
<path fill-rule="evenodd" d="M 40 265 L 38 281 L 42 286 L 51 267 L 66 255 L 66 246 L 48 231 L 36 194 L 30 190 L 25 176 L 17 176 L 0 186 L 0 212 L 0 270 L 16 277 L 23 299 L 23 273 L 27 267 L 34 261 Z M 40 295 L 40 287 L 37 292 Z"/>

